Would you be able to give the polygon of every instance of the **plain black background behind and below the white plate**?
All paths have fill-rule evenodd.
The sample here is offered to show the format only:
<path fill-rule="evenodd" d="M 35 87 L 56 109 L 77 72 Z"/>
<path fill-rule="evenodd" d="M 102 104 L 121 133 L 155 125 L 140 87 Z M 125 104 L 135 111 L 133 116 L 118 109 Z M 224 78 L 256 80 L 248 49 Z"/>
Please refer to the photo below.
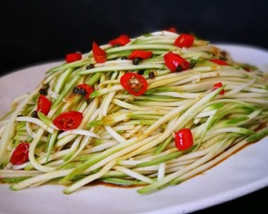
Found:
<path fill-rule="evenodd" d="M 264 0 L 0 0 L 0 76 L 86 53 L 93 40 L 104 45 L 123 33 L 136 37 L 170 27 L 213 43 L 268 50 L 267 9 Z M 267 196 L 266 187 L 197 213 L 260 213 Z"/>

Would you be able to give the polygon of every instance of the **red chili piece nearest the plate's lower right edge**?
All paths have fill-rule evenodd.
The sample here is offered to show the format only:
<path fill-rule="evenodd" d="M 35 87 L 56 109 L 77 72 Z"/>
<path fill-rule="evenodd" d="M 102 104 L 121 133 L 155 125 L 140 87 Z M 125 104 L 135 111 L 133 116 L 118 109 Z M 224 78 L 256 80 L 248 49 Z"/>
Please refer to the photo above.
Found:
<path fill-rule="evenodd" d="M 194 140 L 190 128 L 182 128 L 175 132 L 175 145 L 179 150 L 187 150 L 193 144 Z"/>

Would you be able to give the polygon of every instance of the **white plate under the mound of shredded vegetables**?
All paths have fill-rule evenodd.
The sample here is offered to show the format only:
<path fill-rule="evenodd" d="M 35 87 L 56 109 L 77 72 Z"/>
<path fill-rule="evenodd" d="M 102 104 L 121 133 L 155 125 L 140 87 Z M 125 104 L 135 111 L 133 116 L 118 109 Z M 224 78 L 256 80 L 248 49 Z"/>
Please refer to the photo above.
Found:
<path fill-rule="evenodd" d="M 250 46 L 219 45 L 239 62 L 268 70 L 268 52 Z M 38 86 L 46 70 L 59 62 L 38 65 L 0 78 L 0 115 L 13 98 Z M 268 185 L 268 138 L 251 144 L 213 169 L 156 193 L 139 195 L 135 188 L 95 185 L 70 195 L 63 186 L 43 185 L 18 192 L 0 184 L 0 213 L 186 213 L 227 202 Z"/>

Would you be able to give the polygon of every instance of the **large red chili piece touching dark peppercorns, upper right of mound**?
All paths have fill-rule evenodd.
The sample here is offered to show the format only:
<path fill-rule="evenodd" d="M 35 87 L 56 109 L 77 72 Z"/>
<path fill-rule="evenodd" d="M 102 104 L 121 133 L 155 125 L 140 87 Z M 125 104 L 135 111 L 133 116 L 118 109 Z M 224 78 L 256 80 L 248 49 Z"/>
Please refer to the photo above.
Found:
<path fill-rule="evenodd" d="M 172 72 L 188 70 L 190 67 L 190 63 L 177 53 L 172 53 L 172 52 L 166 53 L 163 56 L 163 60 L 164 60 L 165 65 L 170 70 L 172 70 Z"/>

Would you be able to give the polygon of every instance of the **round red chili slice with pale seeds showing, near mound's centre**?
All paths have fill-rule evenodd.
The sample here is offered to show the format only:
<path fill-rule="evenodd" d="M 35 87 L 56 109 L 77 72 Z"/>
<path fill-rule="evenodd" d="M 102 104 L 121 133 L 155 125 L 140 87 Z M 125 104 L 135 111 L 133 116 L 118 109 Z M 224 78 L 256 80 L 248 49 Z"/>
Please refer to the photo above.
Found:
<path fill-rule="evenodd" d="M 143 95 L 147 91 L 147 79 L 137 73 L 125 73 L 120 83 L 131 95 Z"/>

